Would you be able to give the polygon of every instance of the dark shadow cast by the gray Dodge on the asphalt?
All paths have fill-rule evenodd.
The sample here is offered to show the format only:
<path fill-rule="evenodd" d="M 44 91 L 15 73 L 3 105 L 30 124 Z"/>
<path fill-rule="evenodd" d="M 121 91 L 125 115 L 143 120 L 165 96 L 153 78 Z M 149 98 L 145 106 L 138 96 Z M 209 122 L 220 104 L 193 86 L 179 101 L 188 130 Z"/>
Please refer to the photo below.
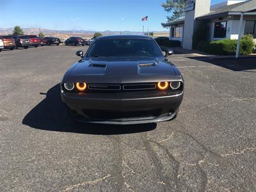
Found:
<path fill-rule="evenodd" d="M 69 117 L 65 104 L 61 100 L 60 84 L 53 86 L 46 94 L 40 94 L 46 95 L 45 99 L 29 111 L 22 120 L 22 124 L 35 129 L 108 135 L 145 132 L 156 128 L 156 124 L 104 125 L 74 122 Z"/>

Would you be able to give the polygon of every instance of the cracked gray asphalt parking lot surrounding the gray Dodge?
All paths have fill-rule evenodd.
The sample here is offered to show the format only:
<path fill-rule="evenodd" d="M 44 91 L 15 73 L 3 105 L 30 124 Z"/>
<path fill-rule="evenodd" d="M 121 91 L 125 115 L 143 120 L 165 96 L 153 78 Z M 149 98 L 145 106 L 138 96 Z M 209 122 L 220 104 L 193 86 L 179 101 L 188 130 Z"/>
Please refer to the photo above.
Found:
<path fill-rule="evenodd" d="M 0 53 L 0 191 L 256 191 L 256 58 L 175 54 L 175 120 L 90 125 L 60 99 L 79 49 Z"/>

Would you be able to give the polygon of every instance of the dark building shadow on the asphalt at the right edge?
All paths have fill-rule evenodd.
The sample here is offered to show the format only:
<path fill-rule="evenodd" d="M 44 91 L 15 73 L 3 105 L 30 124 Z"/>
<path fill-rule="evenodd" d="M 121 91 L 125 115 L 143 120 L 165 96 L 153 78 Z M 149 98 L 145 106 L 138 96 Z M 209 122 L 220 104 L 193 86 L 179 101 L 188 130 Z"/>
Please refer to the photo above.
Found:
<path fill-rule="evenodd" d="M 206 58 L 206 57 L 187 57 L 191 60 L 204 61 L 219 67 L 227 68 L 234 71 L 248 71 L 256 69 L 256 57 L 250 58 Z"/>

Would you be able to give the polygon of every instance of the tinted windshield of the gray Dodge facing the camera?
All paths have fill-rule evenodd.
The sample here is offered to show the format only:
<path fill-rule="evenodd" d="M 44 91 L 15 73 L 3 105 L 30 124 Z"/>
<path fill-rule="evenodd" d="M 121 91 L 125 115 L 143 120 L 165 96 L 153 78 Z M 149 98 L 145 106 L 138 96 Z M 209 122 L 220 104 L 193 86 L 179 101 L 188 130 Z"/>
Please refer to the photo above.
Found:
<path fill-rule="evenodd" d="M 156 42 L 148 39 L 113 38 L 97 40 L 86 57 L 163 56 Z"/>

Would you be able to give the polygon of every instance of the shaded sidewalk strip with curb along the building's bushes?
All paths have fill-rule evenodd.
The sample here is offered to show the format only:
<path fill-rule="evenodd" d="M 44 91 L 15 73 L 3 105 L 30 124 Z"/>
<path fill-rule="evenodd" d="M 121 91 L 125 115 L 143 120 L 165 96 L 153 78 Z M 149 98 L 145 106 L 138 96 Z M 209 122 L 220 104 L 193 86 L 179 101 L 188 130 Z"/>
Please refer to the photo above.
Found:
<path fill-rule="evenodd" d="M 214 54 L 207 54 L 205 52 L 197 51 L 197 50 L 189 50 L 183 49 L 182 47 L 172 47 L 173 52 L 179 52 L 181 54 L 189 54 L 190 57 L 207 57 L 212 59 L 218 58 L 236 58 L 235 55 L 214 55 Z M 256 54 L 249 54 L 249 55 L 239 55 L 239 58 L 256 58 Z"/>

